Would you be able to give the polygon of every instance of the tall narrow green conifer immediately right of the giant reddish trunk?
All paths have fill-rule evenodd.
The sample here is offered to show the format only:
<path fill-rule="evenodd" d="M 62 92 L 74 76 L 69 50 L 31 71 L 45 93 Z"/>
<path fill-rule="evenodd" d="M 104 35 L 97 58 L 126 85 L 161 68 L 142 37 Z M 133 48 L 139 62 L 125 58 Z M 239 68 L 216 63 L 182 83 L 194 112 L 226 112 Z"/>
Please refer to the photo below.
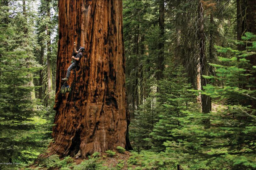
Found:
<path fill-rule="evenodd" d="M 126 87 L 129 110 L 134 117 L 134 110 L 143 102 L 145 72 L 147 66 L 145 59 L 144 37 L 150 25 L 149 2 L 123 1 L 124 46 L 126 54 Z"/>

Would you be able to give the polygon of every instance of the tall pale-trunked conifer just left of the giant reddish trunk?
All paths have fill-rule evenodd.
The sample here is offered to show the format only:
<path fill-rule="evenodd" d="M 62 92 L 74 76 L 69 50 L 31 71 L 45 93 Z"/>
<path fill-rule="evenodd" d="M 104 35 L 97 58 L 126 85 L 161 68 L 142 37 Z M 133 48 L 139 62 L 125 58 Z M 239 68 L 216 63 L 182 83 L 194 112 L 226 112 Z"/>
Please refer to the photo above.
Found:
<path fill-rule="evenodd" d="M 44 98 L 46 106 L 53 102 L 52 89 L 55 85 L 56 73 L 56 56 L 57 56 L 57 42 L 58 36 L 58 8 L 56 8 L 56 1 L 41 1 L 38 7 L 38 18 L 36 19 L 37 43 L 39 44 L 37 50 L 37 60 L 44 67 L 39 71 L 40 80 L 38 82 L 39 98 Z M 53 14 L 51 10 L 53 9 Z M 54 39 L 51 34 L 54 33 Z M 52 78 L 53 77 L 53 78 Z"/>

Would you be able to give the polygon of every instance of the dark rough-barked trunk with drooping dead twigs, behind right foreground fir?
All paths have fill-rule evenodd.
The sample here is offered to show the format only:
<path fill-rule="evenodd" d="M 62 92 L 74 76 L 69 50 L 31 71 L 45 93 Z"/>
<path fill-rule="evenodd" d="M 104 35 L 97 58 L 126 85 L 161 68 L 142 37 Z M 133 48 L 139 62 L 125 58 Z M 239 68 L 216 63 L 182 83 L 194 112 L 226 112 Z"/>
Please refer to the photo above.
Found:
<path fill-rule="evenodd" d="M 201 73 L 201 88 L 206 86 L 208 81 L 203 78 L 203 75 L 208 75 L 208 63 L 205 56 L 205 38 L 204 38 L 204 9 L 203 4 L 199 1 L 198 4 L 198 38 L 199 38 L 199 49 L 200 49 L 200 73 Z M 209 96 L 204 94 L 201 95 L 202 112 L 209 113 L 211 111 L 211 99 Z"/>

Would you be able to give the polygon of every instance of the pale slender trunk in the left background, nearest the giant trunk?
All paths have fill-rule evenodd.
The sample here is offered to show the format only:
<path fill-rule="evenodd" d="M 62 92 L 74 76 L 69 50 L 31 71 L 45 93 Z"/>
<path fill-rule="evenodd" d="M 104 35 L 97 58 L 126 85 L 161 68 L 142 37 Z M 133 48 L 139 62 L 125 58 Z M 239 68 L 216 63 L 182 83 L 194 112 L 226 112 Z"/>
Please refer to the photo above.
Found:
<path fill-rule="evenodd" d="M 46 3 L 47 17 L 50 19 L 50 1 Z M 49 22 L 48 22 L 49 24 Z M 51 30 L 49 25 L 46 25 L 46 32 L 48 36 L 47 41 L 47 78 L 48 78 L 48 98 L 51 98 L 52 94 L 52 61 L 51 61 Z"/>

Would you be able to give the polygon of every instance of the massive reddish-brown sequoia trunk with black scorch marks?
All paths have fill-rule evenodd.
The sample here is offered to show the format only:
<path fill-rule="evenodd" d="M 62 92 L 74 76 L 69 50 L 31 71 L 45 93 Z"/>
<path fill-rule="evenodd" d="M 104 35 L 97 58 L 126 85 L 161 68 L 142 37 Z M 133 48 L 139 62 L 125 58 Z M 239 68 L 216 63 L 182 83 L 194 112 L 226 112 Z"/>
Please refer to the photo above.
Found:
<path fill-rule="evenodd" d="M 61 94 L 73 42 L 85 51 L 69 77 L 72 91 Z M 59 1 L 55 142 L 48 155 L 132 149 L 126 100 L 122 1 Z"/>

